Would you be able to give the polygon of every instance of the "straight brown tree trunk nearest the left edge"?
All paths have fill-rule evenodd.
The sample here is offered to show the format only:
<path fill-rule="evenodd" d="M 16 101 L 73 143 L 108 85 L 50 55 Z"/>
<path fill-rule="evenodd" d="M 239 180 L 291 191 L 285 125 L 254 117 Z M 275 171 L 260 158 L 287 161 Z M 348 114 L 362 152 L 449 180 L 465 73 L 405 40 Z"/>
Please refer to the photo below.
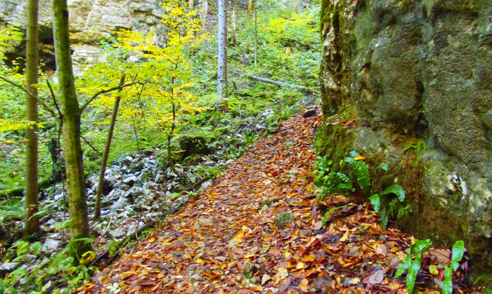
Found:
<path fill-rule="evenodd" d="M 38 1 L 27 1 L 27 36 L 26 36 L 26 64 L 25 77 L 29 91 L 37 96 L 38 82 Z M 37 100 L 27 95 L 25 118 L 36 123 L 27 128 L 27 142 L 25 145 L 25 239 L 39 232 L 39 218 L 34 215 L 38 211 L 38 107 Z"/>

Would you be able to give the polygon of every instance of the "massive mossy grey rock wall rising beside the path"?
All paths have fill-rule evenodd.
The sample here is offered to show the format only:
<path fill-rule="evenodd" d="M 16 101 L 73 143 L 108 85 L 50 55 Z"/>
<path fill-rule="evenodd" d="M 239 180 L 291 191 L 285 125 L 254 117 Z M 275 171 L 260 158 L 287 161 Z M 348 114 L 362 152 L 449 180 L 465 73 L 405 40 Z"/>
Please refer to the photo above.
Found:
<path fill-rule="evenodd" d="M 388 163 L 373 189 L 406 190 L 401 225 L 465 240 L 492 283 L 490 1 L 323 0 L 321 20 L 322 151 Z"/>

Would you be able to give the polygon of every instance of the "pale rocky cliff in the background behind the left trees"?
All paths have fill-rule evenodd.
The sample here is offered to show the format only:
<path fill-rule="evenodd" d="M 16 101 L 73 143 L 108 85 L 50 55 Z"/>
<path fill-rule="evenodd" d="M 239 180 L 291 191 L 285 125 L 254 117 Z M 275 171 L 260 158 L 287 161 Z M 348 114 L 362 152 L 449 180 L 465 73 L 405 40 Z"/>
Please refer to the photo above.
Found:
<path fill-rule="evenodd" d="M 25 27 L 25 0 L 0 0 L 0 22 Z M 99 49 L 93 44 L 108 40 L 110 32 L 117 29 L 131 29 L 135 32 L 155 32 L 155 42 L 164 44 L 165 27 L 160 21 L 164 10 L 159 0 L 68 0 L 70 18 L 70 39 L 77 62 L 98 58 Z M 51 26 L 51 1 L 39 0 L 39 39 L 41 59 L 46 68 L 54 69 L 53 29 Z M 22 57 L 23 44 L 7 53 L 8 59 Z"/>

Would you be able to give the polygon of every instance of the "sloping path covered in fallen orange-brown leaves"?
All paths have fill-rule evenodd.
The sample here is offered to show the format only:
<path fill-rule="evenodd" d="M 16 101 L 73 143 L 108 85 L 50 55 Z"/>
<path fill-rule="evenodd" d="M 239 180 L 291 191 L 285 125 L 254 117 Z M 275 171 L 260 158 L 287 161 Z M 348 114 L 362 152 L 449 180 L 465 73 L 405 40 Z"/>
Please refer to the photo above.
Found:
<path fill-rule="evenodd" d="M 408 293 L 404 275 L 393 276 L 412 236 L 394 224 L 383 232 L 368 203 L 342 195 L 316 203 L 312 143 L 321 121 L 318 115 L 284 121 L 280 132 L 250 145 L 197 201 L 77 290 Z M 347 204 L 323 227 L 325 211 Z M 450 257 L 450 250 L 432 248 L 424 263 L 437 265 L 442 275 Z M 415 285 L 432 293 L 439 274 L 428 269 L 422 267 Z M 470 292 L 460 273 L 453 276 L 456 293 Z"/>

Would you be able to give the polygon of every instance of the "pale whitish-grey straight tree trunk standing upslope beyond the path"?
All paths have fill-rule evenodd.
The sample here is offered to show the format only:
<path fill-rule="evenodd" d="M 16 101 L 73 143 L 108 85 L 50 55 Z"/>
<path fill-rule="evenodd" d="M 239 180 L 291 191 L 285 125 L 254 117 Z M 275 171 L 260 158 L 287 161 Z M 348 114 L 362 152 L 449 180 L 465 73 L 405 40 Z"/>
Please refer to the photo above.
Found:
<path fill-rule="evenodd" d="M 218 9 L 218 43 L 219 43 L 219 69 L 217 74 L 217 109 L 222 105 L 222 101 L 227 99 L 227 15 L 226 15 L 226 1 L 219 0 Z"/>

